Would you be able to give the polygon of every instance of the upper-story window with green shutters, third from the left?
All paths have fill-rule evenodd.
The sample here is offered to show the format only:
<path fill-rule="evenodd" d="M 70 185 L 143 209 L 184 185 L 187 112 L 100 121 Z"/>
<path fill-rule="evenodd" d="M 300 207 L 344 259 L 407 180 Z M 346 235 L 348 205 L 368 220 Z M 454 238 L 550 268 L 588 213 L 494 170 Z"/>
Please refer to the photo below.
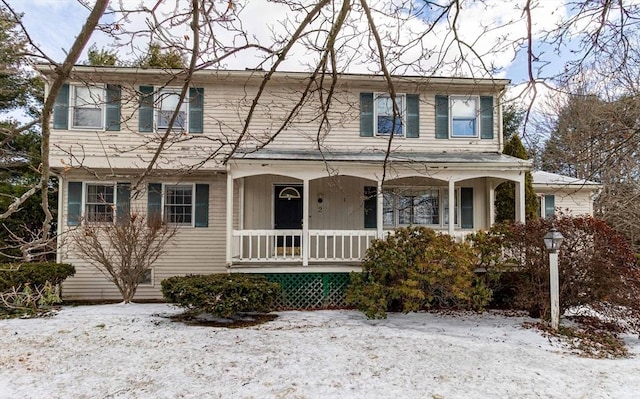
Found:
<path fill-rule="evenodd" d="M 360 136 L 420 136 L 420 99 L 417 94 L 399 94 L 393 100 L 386 93 L 360 93 Z"/>

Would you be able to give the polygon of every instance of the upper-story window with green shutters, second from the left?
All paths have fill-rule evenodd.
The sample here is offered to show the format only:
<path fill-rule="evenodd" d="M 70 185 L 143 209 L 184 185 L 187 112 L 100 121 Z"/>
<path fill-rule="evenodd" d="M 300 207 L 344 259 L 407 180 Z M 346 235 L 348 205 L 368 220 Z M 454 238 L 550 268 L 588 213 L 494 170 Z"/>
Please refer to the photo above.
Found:
<path fill-rule="evenodd" d="M 204 89 L 191 87 L 180 107 L 181 88 L 154 88 L 140 86 L 138 131 L 165 131 L 175 133 L 202 133 L 204 129 Z M 174 112 L 178 112 L 173 126 L 169 126 Z"/>

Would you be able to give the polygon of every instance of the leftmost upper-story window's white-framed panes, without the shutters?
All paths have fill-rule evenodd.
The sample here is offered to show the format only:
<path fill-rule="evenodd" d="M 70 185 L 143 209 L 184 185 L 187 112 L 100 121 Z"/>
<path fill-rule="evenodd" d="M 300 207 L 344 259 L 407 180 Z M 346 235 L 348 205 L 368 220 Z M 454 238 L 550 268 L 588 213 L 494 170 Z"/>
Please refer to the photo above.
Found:
<path fill-rule="evenodd" d="M 76 129 L 102 129 L 104 88 L 73 86 L 71 126 Z"/>

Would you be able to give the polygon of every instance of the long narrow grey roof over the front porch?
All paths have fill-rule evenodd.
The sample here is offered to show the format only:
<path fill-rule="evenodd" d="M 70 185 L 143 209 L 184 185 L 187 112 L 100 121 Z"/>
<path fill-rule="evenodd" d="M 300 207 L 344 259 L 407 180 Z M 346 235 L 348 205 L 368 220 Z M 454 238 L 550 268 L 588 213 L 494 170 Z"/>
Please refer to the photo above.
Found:
<path fill-rule="evenodd" d="M 382 163 L 384 151 L 335 151 L 335 150 L 276 150 L 236 152 L 233 160 L 241 161 L 320 161 L 320 162 L 356 162 Z M 493 164 L 503 166 L 531 167 L 532 162 L 497 152 L 392 152 L 387 159 L 394 163 L 429 164 Z"/>

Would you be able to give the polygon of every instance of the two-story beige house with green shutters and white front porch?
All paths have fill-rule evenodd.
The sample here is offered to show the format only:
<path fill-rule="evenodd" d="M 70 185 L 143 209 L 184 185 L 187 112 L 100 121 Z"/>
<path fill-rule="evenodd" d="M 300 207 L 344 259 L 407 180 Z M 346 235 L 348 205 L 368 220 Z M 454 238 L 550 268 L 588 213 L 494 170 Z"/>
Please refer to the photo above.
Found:
<path fill-rule="evenodd" d="M 398 114 L 381 76 L 264 76 L 196 72 L 161 144 L 181 71 L 74 68 L 56 98 L 50 153 L 58 260 L 77 268 L 65 298 L 118 298 L 64 238 L 129 210 L 180 226 L 138 299 L 159 298 L 160 281 L 177 274 L 358 271 L 371 240 L 398 226 L 456 237 L 488 228 L 504 181 L 516 183 L 524 220 L 531 164 L 501 153 L 507 80 L 394 77 Z"/>

